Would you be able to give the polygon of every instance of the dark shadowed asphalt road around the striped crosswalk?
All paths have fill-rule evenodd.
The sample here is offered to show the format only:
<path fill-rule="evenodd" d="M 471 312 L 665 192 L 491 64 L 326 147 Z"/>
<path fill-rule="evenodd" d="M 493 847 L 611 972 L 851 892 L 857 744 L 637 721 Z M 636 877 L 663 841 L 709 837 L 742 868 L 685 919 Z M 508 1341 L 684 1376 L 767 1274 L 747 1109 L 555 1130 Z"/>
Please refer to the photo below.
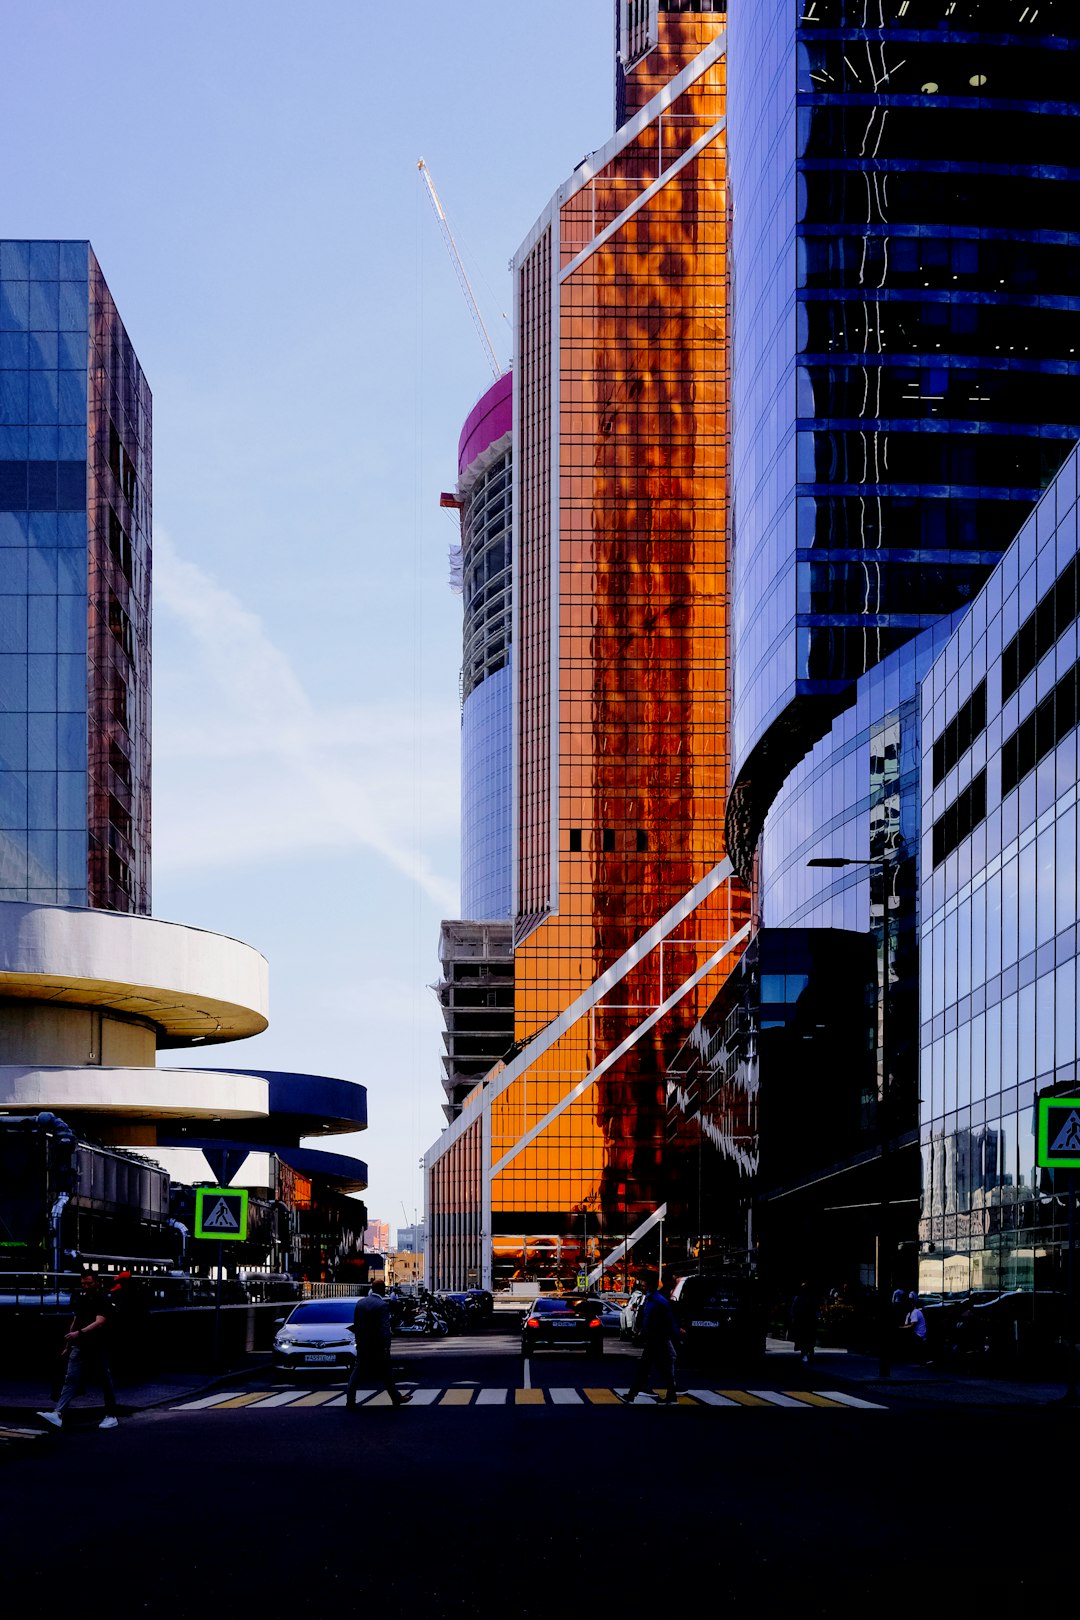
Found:
<path fill-rule="evenodd" d="M 244 1405 L 74 1422 L 0 1473 L 5 1584 L 47 1620 L 933 1617 L 1075 1591 L 1031 1508 L 1075 1413 L 588 1393 L 625 1388 L 633 1354 L 536 1358 L 533 1403 L 512 1335 L 421 1341 L 395 1346 L 400 1379 L 439 1393 L 402 1411 L 345 1413 L 316 1379 L 327 1400 L 296 1405 L 267 1372 L 223 1392 Z"/>

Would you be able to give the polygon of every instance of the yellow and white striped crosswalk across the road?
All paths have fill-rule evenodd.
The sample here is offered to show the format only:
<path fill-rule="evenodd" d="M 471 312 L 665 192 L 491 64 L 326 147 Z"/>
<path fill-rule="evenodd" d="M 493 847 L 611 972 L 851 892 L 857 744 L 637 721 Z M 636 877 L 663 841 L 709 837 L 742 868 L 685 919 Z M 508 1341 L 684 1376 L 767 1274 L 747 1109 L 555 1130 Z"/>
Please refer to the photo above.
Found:
<path fill-rule="evenodd" d="M 620 1390 L 614 1388 L 500 1388 L 476 1383 L 415 1388 L 402 1385 L 411 1395 L 410 1406 L 619 1406 Z M 656 1406 L 661 1392 L 638 1395 L 635 1406 Z M 358 1390 L 358 1406 L 390 1406 L 384 1390 Z M 330 1411 L 345 1406 L 343 1385 L 327 1390 L 275 1388 L 275 1390 L 219 1390 L 194 1401 L 181 1401 L 172 1408 L 180 1413 L 225 1411 Z M 785 1411 L 886 1411 L 879 1401 L 866 1401 L 844 1390 L 683 1390 L 678 1406 L 698 1408 L 774 1408 Z"/>

